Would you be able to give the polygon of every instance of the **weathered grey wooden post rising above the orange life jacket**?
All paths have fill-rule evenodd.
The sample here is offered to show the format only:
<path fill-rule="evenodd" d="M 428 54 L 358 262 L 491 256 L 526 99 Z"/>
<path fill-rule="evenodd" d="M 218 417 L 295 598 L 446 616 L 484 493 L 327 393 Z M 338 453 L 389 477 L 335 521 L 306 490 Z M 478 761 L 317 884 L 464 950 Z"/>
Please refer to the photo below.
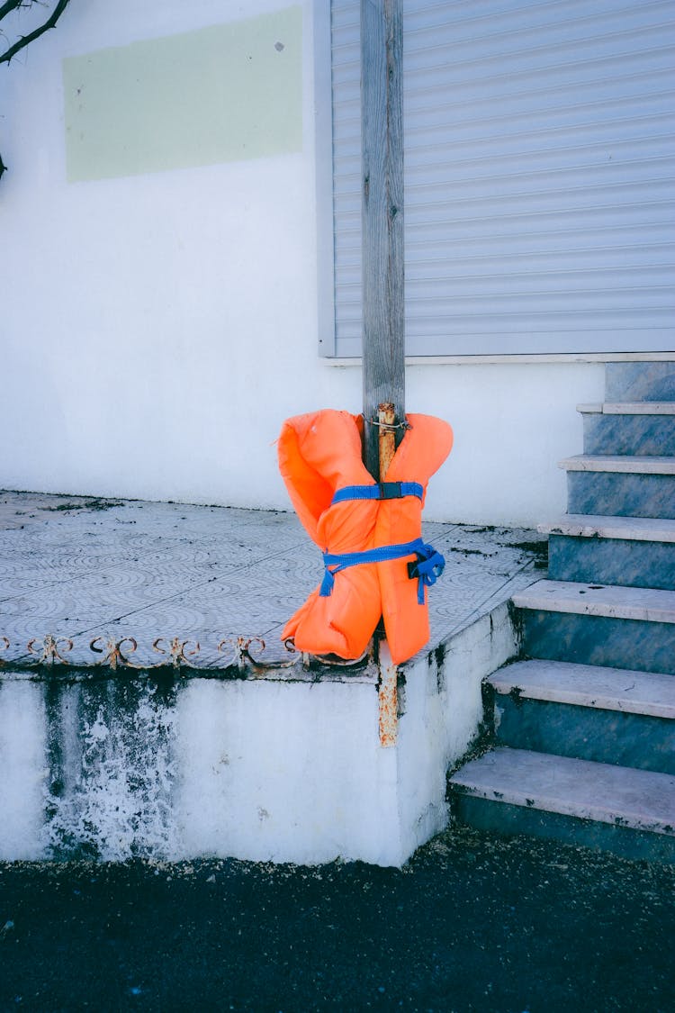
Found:
<path fill-rule="evenodd" d="M 361 0 L 363 461 L 379 471 L 381 404 L 405 408 L 403 0 Z M 403 430 L 396 430 L 396 445 Z"/>

